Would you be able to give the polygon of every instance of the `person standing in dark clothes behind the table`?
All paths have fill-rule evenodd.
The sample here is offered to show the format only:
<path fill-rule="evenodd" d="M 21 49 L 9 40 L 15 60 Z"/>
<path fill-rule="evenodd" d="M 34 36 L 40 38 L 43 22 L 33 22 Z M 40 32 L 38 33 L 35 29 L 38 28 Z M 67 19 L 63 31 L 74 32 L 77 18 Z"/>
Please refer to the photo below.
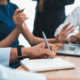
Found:
<path fill-rule="evenodd" d="M 73 4 L 74 0 L 32 0 L 37 1 L 33 34 L 42 36 L 45 32 L 47 38 L 54 38 L 56 28 L 64 22 L 65 6 Z"/>

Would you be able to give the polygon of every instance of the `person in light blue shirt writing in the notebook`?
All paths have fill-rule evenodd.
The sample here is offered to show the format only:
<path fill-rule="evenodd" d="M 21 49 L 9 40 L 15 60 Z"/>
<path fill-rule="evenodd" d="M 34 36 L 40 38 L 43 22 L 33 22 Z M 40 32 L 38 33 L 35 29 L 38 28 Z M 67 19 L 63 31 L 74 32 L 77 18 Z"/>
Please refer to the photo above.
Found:
<path fill-rule="evenodd" d="M 41 56 L 55 57 L 57 47 L 49 44 L 51 51 L 45 43 L 30 48 L 21 48 L 23 58 L 39 58 Z M 0 48 L 0 80 L 49 80 L 44 74 L 18 71 L 8 68 L 9 64 L 18 60 L 17 48 Z M 4 66 L 3 66 L 4 65 Z M 6 66 L 6 67 L 5 67 Z M 14 76 L 13 76 L 14 75 Z"/>

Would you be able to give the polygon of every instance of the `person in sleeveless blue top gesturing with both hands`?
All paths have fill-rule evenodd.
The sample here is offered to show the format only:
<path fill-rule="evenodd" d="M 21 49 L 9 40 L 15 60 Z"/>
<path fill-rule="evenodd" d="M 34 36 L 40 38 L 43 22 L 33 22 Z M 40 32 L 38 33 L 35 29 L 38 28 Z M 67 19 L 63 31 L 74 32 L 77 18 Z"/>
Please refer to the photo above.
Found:
<path fill-rule="evenodd" d="M 24 13 L 19 13 L 19 11 L 20 9 L 18 9 L 18 6 L 16 4 L 11 3 L 9 0 L 0 0 L 0 25 L 1 25 L 0 27 L 0 47 L 14 47 L 14 48 L 17 47 L 19 45 L 18 36 L 20 32 L 23 34 L 25 39 L 32 46 L 37 45 L 41 42 L 44 42 L 44 39 L 35 37 L 29 31 L 26 23 L 24 22 L 26 19 L 28 19 L 28 17 Z M 66 29 L 68 25 L 70 25 L 70 23 L 68 23 L 64 28 Z M 16 35 L 16 32 L 14 33 L 12 32 L 14 28 L 16 28 L 16 32 L 17 32 L 17 29 L 20 30 L 20 32 L 17 32 L 17 35 Z M 59 33 L 57 38 L 48 39 L 48 42 L 52 44 L 64 42 L 65 38 L 70 33 L 70 32 L 67 33 L 64 28 Z M 12 35 L 15 35 L 15 37 L 9 35 L 10 33 Z M 18 66 L 20 66 L 20 63 L 16 62 L 16 63 L 10 64 L 10 66 L 13 68 L 17 68 Z"/>

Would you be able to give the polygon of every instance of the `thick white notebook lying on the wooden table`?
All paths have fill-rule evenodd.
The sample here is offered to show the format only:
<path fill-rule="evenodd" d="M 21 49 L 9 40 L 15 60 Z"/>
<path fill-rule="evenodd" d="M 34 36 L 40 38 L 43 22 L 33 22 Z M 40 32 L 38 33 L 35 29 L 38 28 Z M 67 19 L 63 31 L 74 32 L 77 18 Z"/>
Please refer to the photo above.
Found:
<path fill-rule="evenodd" d="M 21 60 L 21 65 L 30 72 L 75 68 L 73 63 L 61 58 Z"/>

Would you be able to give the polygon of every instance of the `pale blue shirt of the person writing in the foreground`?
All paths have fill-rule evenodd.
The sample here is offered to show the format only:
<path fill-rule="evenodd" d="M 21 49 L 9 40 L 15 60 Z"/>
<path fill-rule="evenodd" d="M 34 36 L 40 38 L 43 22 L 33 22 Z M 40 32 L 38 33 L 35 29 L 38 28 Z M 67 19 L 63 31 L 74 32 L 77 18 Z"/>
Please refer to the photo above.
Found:
<path fill-rule="evenodd" d="M 5 67 L 9 66 L 10 50 L 11 48 L 0 48 L 0 80 L 47 80 L 44 74 Z"/>

